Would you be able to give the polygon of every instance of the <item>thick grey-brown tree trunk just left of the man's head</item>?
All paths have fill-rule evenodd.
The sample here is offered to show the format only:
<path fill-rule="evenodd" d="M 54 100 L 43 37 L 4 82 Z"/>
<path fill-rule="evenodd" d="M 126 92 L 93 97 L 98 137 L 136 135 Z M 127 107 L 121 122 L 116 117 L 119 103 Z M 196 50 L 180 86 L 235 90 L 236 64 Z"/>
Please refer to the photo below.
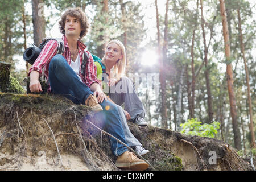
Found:
<path fill-rule="evenodd" d="M 32 0 L 32 22 L 34 33 L 34 44 L 39 46 L 46 37 L 46 20 L 44 19 L 43 0 Z"/>

